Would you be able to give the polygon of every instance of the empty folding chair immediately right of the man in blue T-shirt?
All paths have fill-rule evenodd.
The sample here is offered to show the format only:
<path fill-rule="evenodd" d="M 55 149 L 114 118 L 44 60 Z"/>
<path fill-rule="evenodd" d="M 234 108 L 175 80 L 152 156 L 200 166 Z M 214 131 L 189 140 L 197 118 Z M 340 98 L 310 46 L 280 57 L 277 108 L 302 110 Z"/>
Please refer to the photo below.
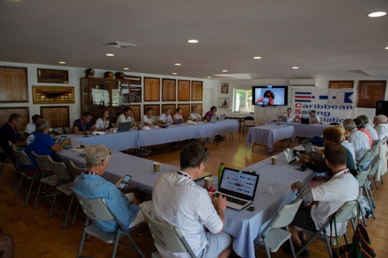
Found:
<path fill-rule="evenodd" d="M 35 202 L 33 204 L 33 208 L 35 209 L 38 204 L 38 198 L 40 194 L 40 189 L 42 188 L 42 184 L 47 184 L 48 186 L 56 187 L 59 183 L 59 178 L 55 174 L 45 177 L 46 174 L 49 175 L 50 172 L 52 172 L 53 170 L 50 163 L 52 159 L 49 155 L 38 155 L 34 151 L 31 151 L 31 153 L 34 156 L 36 162 L 38 163 L 38 167 L 41 171 L 38 192 L 36 193 Z"/>

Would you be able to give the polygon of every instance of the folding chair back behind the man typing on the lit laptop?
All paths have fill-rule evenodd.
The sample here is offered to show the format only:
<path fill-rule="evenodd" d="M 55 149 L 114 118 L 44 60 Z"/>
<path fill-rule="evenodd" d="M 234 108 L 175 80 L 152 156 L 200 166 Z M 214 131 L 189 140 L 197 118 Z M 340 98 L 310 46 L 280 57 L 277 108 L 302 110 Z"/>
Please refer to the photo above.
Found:
<path fill-rule="evenodd" d="M 177 226 L 170 226 L 164 222 L 155 220 L 148 214 L 146 208 L 143 206 L 140 207 L 140 210 L 146 217 L 152 238 L 158 245 L 174 253 L 188 252 L 191 258 L 196 258 L 189 243 Z M 151 257 L 161 258 L 158 251 L 153 252 Z"/>

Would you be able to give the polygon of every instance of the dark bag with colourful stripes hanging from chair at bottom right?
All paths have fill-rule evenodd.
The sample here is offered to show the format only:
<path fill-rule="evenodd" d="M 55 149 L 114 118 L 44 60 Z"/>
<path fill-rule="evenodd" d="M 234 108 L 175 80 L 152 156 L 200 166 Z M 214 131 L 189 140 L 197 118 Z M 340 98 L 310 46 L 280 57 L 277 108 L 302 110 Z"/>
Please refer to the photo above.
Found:
<path fill-rule="evenodd" d="M 342 246 L 338 246 L 338 235 L 337 235 L 337 225 L 336 225 L 336 214 L 333 215 L 334 220 L 334 229 L 336 232 L 336 241 L 337 241 L 337 248 L 333 247 L 333 238 L 332 233 L 330 235 L 330 242 L 333 252 L 333 257 L 340 257 L 340 258 L 372 258 L 375 257 L 376 254 L 372 248 L 371 241 L 369 240 L 369 236 L 367 233 L 367 230 L 365 229 L 364 225 L 362 224 L 362 221 L 360 221 L 360 204 L 356 200 L 357 204 L 357 226 L 356 226 L 356 232 L 353 235 L 353 242 L 349 244 L 345 244 Z M 332 222 L 333 222 L 332 220 Z M 331 231 L 331 224 L 330 224 L 330 231 Z M 332 231 L 331 231 L 332 232 Z M 345 233 L 346 234 L 346 233 Z"/>

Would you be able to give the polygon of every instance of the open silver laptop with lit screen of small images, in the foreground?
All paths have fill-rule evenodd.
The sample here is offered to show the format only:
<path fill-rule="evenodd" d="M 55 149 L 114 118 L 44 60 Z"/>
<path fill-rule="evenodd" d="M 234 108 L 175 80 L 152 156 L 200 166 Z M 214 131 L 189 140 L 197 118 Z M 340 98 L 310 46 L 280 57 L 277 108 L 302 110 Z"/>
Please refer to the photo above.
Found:
<path fill-rule="evenodd" d="M 255 199 L 259 175 L 240 172 L 236 169 L 224 168 L 216 196 L 226 197 L 226 206 L 235 210 L 242 210 Z"/>

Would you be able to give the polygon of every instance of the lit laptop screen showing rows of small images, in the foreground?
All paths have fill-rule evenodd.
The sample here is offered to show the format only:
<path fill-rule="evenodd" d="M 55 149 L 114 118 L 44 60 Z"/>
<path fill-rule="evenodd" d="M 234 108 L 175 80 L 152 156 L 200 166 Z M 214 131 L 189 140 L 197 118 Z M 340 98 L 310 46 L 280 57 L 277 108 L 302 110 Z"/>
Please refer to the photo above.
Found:
<path fill-rule="evenodd" d="M 224 169 L 219 191 L 221 193 L 236 195 L 240 198 L 253 200 L 259 175 L 240 173 L 239 171 Z"/>

